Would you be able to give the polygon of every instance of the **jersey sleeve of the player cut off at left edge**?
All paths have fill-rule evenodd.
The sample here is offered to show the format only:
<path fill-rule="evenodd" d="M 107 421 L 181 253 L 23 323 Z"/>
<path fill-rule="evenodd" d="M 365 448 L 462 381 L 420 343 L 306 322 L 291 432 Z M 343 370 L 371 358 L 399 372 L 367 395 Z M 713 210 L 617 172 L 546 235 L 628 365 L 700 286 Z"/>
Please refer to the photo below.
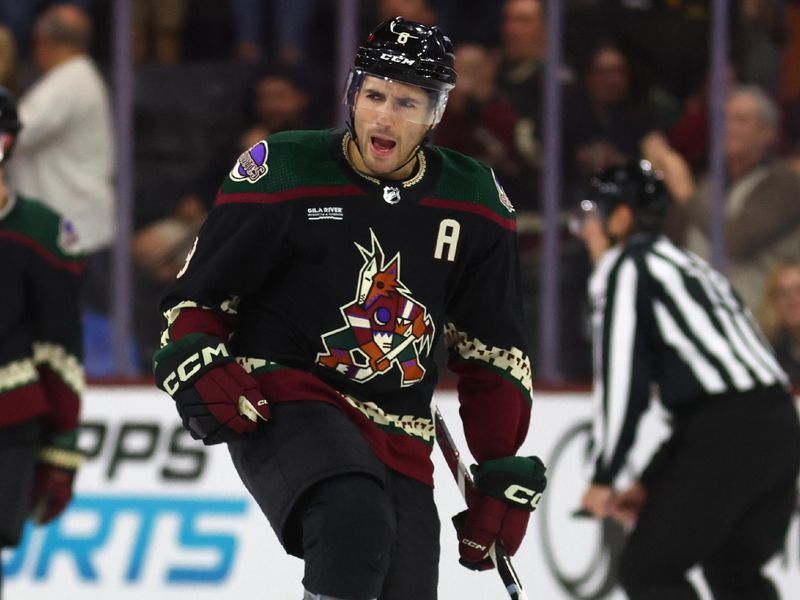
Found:
<path fill-rule="evenodd" d="M 47 400 L 44 420 L 51 433 L 78 426 L 86 387 L 80 308 L 84 260 L 59 248 L 56 238 L 64 226 L 59 221 L 53 227 L 53 239 L 30 254 L 27 269 L 33 360 Z"/>

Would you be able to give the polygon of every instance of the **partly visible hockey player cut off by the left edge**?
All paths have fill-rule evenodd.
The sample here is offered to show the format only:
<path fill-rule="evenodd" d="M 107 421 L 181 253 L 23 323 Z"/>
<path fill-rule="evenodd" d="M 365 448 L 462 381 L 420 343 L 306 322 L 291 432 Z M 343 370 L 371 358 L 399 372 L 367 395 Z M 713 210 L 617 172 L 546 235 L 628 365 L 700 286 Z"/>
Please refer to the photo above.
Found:
<path fill-rule="evenodd" d="M 28 515 L 47 523 L 64 510 L 81 460 L 83 260 L 68 222 L 6 185 L 19 130 L 0 88 L 0 548 L 19 542 Z"/>

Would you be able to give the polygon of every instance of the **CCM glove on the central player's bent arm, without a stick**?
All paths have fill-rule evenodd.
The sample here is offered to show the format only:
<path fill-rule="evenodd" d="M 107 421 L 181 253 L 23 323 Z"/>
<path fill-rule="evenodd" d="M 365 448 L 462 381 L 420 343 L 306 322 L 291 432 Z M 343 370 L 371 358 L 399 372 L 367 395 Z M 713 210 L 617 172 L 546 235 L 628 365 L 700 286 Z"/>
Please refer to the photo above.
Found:
<path fill-rule="evenodd" d="M 158 387 L 175 400 L 183 426 L 206 445 L 250 433 L 270 409 L 253 379 L 217 337 L 191 334 L 156 352 Z"/>

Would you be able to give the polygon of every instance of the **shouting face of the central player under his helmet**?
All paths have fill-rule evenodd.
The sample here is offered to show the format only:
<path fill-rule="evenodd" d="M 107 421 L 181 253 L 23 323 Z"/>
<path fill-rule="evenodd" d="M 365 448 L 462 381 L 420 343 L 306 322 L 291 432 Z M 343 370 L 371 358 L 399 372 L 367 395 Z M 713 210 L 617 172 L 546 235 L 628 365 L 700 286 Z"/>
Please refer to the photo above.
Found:
<path fill-rule="evenodd" d="M 413 171 L 414 161 L 403 165 L 432 120 L 431 101 L 421 88 L 367 76 L 353 110 L 363 162 L 359 168 L 368 175 L 405 179 Z"/>

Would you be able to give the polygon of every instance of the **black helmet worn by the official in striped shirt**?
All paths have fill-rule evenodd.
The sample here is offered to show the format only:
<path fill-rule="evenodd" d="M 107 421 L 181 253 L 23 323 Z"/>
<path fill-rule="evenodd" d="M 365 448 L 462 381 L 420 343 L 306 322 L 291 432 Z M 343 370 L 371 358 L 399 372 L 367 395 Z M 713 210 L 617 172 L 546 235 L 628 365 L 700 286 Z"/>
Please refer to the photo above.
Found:
<path fill-rule="evenodd" d="M 609 167 L 589 179 L 579 212 L 598 211 L 608 217 L 620 204 L 627 204 L 636 231 L 660 231 L 670 205 L 661 175 L 646 160 Z"/>

